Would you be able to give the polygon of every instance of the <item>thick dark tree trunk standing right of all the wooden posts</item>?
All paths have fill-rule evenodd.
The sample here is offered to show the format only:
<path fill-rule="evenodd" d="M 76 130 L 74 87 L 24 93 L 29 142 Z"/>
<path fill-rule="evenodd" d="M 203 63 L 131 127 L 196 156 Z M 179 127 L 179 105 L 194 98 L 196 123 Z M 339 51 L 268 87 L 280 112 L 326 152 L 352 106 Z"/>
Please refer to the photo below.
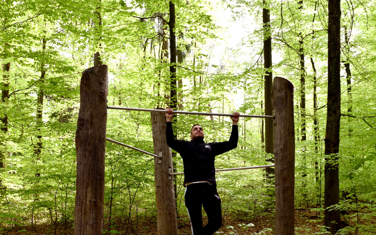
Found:
<path fill-rule="evenodd" d="M 335 234 L 341 229 L 340 209 L 331 208 L 340 202 L 338 179 L 338 150 L 340 146 L 341 117 L 341 4 L 340 0 L 329 0 L 328 20 L 328 93 L 325 132 L 325 188 L 324 215 L 327 230 Z"/>

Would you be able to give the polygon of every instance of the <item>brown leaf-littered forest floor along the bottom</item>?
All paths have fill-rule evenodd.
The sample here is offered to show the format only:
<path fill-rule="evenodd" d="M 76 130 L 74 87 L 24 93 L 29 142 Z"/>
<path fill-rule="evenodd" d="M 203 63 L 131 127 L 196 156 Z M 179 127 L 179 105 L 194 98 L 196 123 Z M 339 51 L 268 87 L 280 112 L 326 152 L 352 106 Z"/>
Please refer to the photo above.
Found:
<path fill-rule="evenodd" d="M 206 224 L 206 217 L 203 217 L 203 224 Z M 254 222 L 254 221 L 253 221 Z M 274 227 L 274 219 L 268 218 L 258 218 L 255 226 L 246 226 L 246 224 L 252 223 L 252 221 L 238 220 L 231 217 L 226 217 L 223 226 L 217 231 L 216 234 L 221 235 L 253 235 L 253 234 L 274 234 L 271 230 Z M 243 226 L 239 226 L 243 224 Z M 295 234 L 296 235 L 311 235 L 320 231 L 320 227 L 317 225 L 322 225 L 322 222 L 317 217 L 317 212 L 305 210 L 295 211 Z M 134 224 L 133 227 L 136 227 Z M 233 228 L 232 228 L 233 227 Z M 127 235 L 157 235 L 157 224 L 156 222 L 139 222 L 137 229 L 131 231 L 127 224 L 120 224 L 114 228 L 116 232 L 106 234 L 127 234 Z M 188 218 L 180 218 L 178 220 L 178 233 L 179 235 L 191 235 L 191 227 Z M 55 226 L 52 224 L 37 224 L 33 226 L 25 227 L 14 227 L 13 229 L 8 228 L 0 230 L 0 234 L 6 235 L 42 235 L 42 234 L 55 234 Z M 56 235 L 73 235 L 73 224 L 67 226 L 57 226 Z"/>

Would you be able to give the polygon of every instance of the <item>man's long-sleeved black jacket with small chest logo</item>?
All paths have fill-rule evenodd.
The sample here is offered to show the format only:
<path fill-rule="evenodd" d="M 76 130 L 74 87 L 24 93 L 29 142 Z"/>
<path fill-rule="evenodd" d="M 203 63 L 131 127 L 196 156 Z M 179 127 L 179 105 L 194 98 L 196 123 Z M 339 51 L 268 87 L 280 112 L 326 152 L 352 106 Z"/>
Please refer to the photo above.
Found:
<path fill-rule="evenodd" d="M 167 122 L 167 145 L 180 153 L 184 166 L 184 184 L 206 180 L 215 182 L 214 157 L 235 149 L 238 145 L 238 126 L 233 125 L 229 141 L 205 143 L 203 140 L 185 141 L 174 139 L 172 123 Z"/>

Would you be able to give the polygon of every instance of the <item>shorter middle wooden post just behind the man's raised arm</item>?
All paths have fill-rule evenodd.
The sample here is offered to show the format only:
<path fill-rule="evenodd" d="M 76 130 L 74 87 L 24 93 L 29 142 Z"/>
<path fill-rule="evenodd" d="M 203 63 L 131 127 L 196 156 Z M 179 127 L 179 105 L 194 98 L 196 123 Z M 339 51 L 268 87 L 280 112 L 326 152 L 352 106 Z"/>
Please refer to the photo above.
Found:
<path fill-rule="evenodd" d="M 168 169 L 172 170 L 172 156 L 166 140 L 166 118 L 164 113 L 151 112 L 151 115 L 154 154 L 162 153 L 161 163 L 154 158 L 158 235 L 177 235 L 173 176 L 168 179 Z"/>

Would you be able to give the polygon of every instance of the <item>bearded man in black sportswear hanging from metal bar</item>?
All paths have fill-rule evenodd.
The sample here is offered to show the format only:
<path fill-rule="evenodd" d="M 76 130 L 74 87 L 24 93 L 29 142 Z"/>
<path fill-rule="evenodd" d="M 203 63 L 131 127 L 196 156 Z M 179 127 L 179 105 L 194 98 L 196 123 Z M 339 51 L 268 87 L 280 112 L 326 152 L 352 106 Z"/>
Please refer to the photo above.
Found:
<path fill-rule="evenodd" d="M 166 109 L 167 145 L 180 153 L 184 166 L 185 206 L 191 219 L 193 235 L 211 235 L 222 225 L 221 199 L 215 182 L 214 158 L 235 149 L 238 145 L 239 113 L 234 112 L 229 141 L 205 143 L 204 132 L 199 124 L 191 129 L 191 141 L 174 139 L 171 119 L 173 110 Z M 202 226 L 202 206 L 208 215 L 208 224 Z"/>

